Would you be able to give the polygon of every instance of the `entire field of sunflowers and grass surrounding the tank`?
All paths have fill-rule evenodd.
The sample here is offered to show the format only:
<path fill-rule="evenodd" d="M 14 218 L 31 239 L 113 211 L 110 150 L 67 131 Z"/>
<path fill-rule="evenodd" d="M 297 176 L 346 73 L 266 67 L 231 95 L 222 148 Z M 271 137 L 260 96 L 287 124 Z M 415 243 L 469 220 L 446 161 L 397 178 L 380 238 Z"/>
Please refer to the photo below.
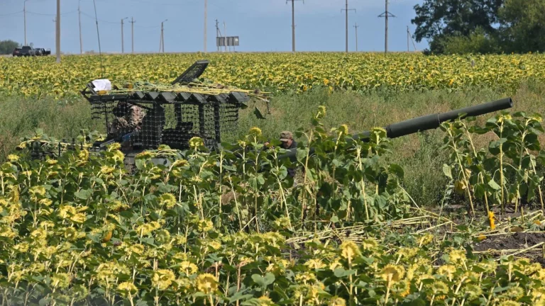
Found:
<path fill-rule="evenodd" d="M 0 85 L 9 94 L 0 98 L 1 305 L 544 305 L 541 55 L 483 57 L 473 68 L 419 55 L 218 56 L 205 76 L 214 81 L 248 88 L 272 75 L 259 86 L 275 89 L 270 114 L 256 118 L 251 103 L 225 139 L 241 157 L 197 138 L 187 152 L 139 154 L 133 174 L 119 145 L 58 160 L 13 154 L 36 128 L 57 139 L 104 132 L 74 94 L 96 78 L 97 57 L 67 57 L 72 67 L 0 58 L 9 70 Z M 121 68 L 111 79 L 155 67 L 153 81 L 168 81 L 195 59 L 106 62 Z M 418 63 L 439 70 L 413 74 Z M 30 73 L 35 81 L 16 81 L 35 67 L 46 67 Z M 351 90 L 334 77 L 324 84 L 326 75 L 387 86 Z M 507 96 L 514 108 L 504 115 L 395 140 L 378 128 Z M 261 150 L 282 130 L 304 132 L 297 186 L 289 163 L 275 162 L 279 149 Z M 364 130 L 369 142 L 347 141 Z"/>

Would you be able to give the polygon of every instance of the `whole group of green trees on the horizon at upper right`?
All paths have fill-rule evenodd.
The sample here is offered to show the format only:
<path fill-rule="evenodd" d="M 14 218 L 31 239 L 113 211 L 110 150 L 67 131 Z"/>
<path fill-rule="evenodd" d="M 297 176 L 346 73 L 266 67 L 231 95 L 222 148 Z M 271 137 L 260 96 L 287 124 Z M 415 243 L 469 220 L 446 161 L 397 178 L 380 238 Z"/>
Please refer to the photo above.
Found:
<path fill-rule="evenodd" d="M 424 0 L 414 6 L 414 39 L 427 53 L 545 51 L 545 0 Z"/>

